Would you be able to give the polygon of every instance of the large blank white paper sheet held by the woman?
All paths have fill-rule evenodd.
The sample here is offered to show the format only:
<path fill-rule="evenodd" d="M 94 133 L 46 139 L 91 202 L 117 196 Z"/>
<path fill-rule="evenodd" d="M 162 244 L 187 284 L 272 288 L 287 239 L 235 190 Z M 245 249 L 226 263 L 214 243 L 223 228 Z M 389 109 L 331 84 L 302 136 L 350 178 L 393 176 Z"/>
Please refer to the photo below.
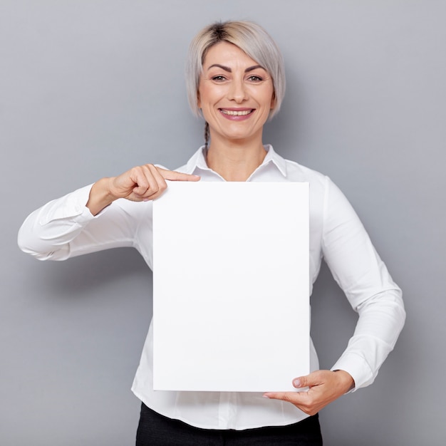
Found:
<path fill-rule="evenodd" d="M 155 390 L 296 390 L 308 183 L 170 182 L 153 203 Z"/>

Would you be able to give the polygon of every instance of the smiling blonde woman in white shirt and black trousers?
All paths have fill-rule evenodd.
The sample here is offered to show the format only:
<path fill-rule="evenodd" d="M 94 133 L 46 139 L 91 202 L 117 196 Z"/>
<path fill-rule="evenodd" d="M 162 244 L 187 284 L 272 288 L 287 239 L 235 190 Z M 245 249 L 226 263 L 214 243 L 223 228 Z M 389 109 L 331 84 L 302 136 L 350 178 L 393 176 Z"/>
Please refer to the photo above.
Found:
<path fill-rule="evenodd" d="M 155 393 L 151 324 L 133 392 L 142 400 L 137 445 L 321 445 L 318 411 L 372 383 L 395 345 L 405 319 L 400 289 L 331 180 L 263 145 L 264 123 L 278 112 L 285 88 L 281 54 L 263 28 L 246 21 L 204 28 L 190 45 L 187 88 L 192 110 L 206 124 L 205 144 L 186 165 L 134 167 L 49 202 L 26 219 L 19 245 L 53 260 L 133 246 L 151 267 L 151 225 L 139 223 L 152 218 L 151 200 L 167 180 L 309 182 L 311 284 L 324 257 L 359 313 L 333 368 L 318 370 L 311 346 L 313 371 L 293 380 L 306 392 Z"/>

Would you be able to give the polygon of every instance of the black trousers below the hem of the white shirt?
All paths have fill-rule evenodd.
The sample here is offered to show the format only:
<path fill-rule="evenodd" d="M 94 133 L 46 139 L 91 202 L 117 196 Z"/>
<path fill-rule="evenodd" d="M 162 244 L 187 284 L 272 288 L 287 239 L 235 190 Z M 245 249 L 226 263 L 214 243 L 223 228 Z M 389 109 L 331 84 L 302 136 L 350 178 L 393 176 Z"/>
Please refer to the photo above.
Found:
<path fill-rule="evenodd" d="M 293 425 L 247 430 L 199 429 L 142 403 L 136 446 L 322 446 L 318 415 Z"/>

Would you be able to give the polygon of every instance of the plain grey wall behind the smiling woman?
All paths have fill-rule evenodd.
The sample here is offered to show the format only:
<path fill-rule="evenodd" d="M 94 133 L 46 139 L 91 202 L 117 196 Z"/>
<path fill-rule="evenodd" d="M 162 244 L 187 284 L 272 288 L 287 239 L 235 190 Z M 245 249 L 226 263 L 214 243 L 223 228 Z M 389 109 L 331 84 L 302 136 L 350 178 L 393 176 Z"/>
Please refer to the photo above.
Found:
<path fill-rule="evenodd" d="M 258 21 L 279 43 L 288 90 L 264 141 L 333 178 L 404 291 L 395 351 L 322 411 L 326 445 L 442 445 L 445 14 L 422 0 L 1 0 L 1 445 L 133 444 L 149 271 L 130 249 L 39 263 L 16 232 L 53 197 L 190 157 L 202 123 L 185 53 L 216 19 Z M 326 269 L 312 306 L 329 368 L 356 314 Z"/>

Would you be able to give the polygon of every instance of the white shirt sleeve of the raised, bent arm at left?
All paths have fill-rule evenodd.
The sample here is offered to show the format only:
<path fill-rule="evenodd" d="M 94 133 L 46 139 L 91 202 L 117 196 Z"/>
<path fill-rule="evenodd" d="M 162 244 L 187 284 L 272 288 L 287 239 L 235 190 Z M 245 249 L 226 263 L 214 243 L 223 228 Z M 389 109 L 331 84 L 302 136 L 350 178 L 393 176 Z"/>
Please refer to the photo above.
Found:
<path fill-rule="evenodd" d="M 39 260 L 65 260 L 113 247 L 131 247 L 137 220 L 116 200 L 96 216 L 85 204 L 92 185 L 54 199 L 32 212 L 19 229 L 22 251 Z M 127 200 L 125 200 L 127 201 Z M 131 204 L 127 204 L 131 210 Z"/>

